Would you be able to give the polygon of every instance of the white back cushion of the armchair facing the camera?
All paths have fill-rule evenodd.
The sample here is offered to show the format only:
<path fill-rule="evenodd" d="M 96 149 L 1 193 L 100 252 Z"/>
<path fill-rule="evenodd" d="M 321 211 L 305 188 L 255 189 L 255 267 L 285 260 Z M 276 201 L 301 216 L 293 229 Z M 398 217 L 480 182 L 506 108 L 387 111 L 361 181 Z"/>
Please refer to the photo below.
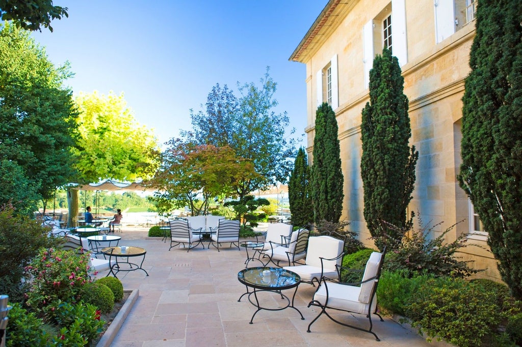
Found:
<path fill-rule="evenodd" d="M 330 236 L 315 236 L 308 241 L 306 265 L 321 267 L 321 259 L 335 258 L 341 254 L 345 242 Z M 341 265 L 342 258 L 337 261 L 324 261 L 325 271 L 335 271 L 335 265 Z"/>

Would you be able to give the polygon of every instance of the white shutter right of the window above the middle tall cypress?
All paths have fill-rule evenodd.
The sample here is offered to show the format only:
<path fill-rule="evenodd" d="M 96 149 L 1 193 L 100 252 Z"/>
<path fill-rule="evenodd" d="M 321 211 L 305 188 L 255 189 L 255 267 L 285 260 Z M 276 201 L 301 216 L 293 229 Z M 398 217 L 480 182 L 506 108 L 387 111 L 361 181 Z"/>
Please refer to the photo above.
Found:
<path fill-rule="evenodd" d="M 443 1 L 450 2 L 449 0 Z M 392 0 L 392 50 L 393 55 L 399 60 L 399 66 L 408 63 L 405 0 Z"/>

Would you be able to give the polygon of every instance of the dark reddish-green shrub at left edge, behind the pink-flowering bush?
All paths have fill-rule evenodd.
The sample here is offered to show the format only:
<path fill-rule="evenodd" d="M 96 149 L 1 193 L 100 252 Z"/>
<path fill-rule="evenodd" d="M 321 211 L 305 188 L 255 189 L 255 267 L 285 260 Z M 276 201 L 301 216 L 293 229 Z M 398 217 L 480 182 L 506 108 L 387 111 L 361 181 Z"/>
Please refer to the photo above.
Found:
<path fill-rule="evenodd" d="M 60 240 L 47 237 L 51 228 L 42 227 L 41 220 L 19 215 L 13 206 L 0 206 L 0 293 L 11 302 L 25 300 L 20 283 L 23 268 L 42 247 L 54 247 Z"/>

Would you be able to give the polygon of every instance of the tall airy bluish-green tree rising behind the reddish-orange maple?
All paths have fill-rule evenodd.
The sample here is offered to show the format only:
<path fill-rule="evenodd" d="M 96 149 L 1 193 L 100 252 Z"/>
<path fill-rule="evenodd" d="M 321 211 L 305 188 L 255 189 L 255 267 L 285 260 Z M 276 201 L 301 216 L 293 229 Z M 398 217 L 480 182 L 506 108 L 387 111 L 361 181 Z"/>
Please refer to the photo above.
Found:
<path fill-rule="evenodd" d="M 286 113 L 276 114 L 274 98 L 277 83 L 267 72 L 255 83 L 239 85 L 241 96 L 235 97 L 225 85 L 216 84 L 207 97 L 206 113 L 192 113 L 193 132 L 184 136 L 203 145 L 230 146 L 235 155 L 250 160 L 255 176 L 235 185 L 235 194 L 242 197 L 266 189 L 276 182 L 286 182 L 294 157 L 293 140 L 286 139 L 289 118 Z"/>

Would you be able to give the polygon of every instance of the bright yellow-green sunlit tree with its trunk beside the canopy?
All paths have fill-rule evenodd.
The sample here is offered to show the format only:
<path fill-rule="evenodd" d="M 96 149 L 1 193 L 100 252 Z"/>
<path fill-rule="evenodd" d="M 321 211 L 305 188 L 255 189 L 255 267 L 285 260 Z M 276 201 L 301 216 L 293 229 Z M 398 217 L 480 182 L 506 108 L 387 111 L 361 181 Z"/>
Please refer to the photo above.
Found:
<path fill-rule="evenodd" d="M 73 148 L 78 183 L 133 181 L 153 175 L 160 157 L 156 138 L 136 122 L 123 94 L 80 93 L 75 102 L 80 113 L 80 136 Z M 69 189 L 67 201 L 68 224 L 75 225 L 78 190 Z"/>

